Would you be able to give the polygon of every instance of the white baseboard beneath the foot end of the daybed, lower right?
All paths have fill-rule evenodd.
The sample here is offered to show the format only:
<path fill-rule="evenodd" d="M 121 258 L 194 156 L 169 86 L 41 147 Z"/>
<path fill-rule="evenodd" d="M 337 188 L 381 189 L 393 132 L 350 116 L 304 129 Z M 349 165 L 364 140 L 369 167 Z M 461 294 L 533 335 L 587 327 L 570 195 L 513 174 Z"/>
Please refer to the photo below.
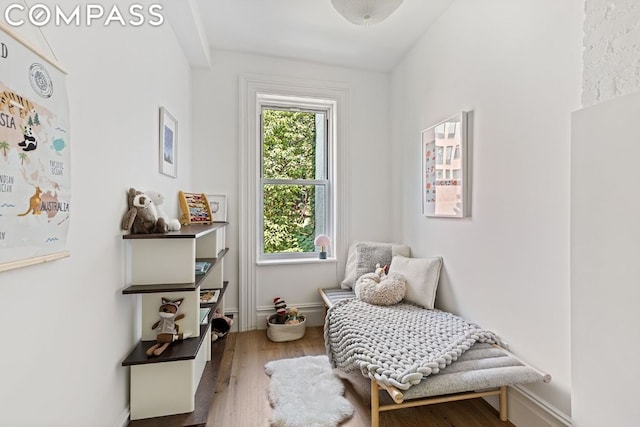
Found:
<path fill-rule="evenodd" d="M 498 408 L 497 398 L 487 398 Z M 571 427 L 571 417 L 525 387 L 509 387 L 507 396 L 509 421 L 518 427 Z"/>

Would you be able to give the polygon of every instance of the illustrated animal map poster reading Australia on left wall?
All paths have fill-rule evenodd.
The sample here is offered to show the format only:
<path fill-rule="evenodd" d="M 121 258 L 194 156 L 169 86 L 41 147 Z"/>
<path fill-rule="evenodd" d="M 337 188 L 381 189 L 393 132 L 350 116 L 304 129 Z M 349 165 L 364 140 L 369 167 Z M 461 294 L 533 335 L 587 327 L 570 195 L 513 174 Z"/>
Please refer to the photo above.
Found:
<path fill-rule="evenodd" d="M 68 256 L 66 75 L 0 28 L 0 271 Z"/>

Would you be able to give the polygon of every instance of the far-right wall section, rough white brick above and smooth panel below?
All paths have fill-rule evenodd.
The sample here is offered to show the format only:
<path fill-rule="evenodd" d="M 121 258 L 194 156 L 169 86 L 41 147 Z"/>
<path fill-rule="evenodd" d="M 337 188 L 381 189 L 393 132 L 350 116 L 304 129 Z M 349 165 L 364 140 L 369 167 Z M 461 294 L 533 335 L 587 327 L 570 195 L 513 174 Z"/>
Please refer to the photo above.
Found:
<path fill-rule="evenodd" d="M 632 0 L 588 0 L 587 108 L 572 118 L 571 339 L 577 427 L 635 426 L 640 368 L 626 356 L 640 297 L 636 225 L 640 155 L 640 9 Z M 594 351 L 597 348 L 597 351 Z M 621 354 L 609 359 L 610 355 Z M 599 369 L 601 368 L 601 369 Z M 594 375 L 594 372 L 596 373 Z"/>

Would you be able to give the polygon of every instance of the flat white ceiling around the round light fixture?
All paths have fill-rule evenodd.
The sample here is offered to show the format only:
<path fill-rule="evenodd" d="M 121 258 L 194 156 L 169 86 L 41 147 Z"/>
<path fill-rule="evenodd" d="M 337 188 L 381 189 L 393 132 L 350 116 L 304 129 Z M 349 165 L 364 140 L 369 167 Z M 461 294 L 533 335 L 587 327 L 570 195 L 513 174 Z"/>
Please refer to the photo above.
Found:
<path fill-rule="evenodd" d="M 190 10 L 185 12 L 185 2 L 169 12 L 182 15 L 170 20 L 187 56 L 200 43 L 206 62 L 209 45 L 390 71 L 452 1 L 404 0 L 387 20 L 370 27 L 348 22 L 330 0 L 190 0 Z"/>

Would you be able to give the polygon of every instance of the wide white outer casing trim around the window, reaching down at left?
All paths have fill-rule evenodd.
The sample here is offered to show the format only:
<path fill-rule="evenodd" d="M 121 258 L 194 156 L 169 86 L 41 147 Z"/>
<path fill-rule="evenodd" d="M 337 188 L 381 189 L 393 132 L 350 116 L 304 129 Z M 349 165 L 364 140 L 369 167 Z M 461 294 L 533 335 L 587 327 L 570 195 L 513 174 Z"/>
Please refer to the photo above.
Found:
<path fill-rule="evenodd" d="M 259 176 L 257 149 L 260 129 L 257 117 L 258 94 L 279 94 L 301 99 L 318 98 L 335 102 L 336 121 L 333 138 L 333 165 L 336 181 L 333 185 L 334 240 L 331 242 L 333 260 L 297 260 L 293 262 L 330 262 L 336 271 L 344 271 L 350 239 L 350 193 L 348 165 L 350 152 L 347 141 L 349 87 L 346 83 L 304 80 L 265 74 L 241 74 L 239 78 L 239 185 L 238 185 L 238 325 L 240 331 L 258 328 L 257 282 L 258 262 L 256 179 Z M 232 225 L 233 227 L 233 225 Z M 277 261 L 284 264 L 284 261 Z"/>

